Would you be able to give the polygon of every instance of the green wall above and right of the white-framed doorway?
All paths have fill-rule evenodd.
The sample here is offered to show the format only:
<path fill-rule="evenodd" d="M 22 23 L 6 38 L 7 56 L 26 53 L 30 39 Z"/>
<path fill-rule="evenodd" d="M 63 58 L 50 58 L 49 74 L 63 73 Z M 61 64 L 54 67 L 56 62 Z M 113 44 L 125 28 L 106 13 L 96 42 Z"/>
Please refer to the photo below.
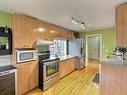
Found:
<path fill-rule="evenodd" d="M 92 30 L 87 32 L 81 32 L 80 37 L 86 37 L 86 35 L 102 34 L 102 56 L 107 57 L 113 49 L 116 47 L 116 32 L 115 28 Z"/>

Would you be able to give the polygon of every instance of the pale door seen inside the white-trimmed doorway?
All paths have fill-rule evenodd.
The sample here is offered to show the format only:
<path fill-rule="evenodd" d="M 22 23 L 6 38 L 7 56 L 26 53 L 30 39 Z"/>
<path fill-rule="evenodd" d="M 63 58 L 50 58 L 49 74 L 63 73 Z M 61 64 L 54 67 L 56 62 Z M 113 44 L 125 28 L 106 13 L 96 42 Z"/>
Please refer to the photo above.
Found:
<path fill-rule="evenodd" d="M 100 36 L 88 36 L 88 58 L 100 59 Z"/>

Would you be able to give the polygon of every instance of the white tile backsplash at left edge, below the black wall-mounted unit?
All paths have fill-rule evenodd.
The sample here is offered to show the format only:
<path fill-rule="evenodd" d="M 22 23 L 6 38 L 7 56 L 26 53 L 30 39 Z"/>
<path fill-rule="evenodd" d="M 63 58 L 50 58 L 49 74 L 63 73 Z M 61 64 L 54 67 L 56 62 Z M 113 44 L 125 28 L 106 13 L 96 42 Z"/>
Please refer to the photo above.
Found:
<path fill-rule="evenodd" d="M 0 56 L 0 66 L 10 65 L 11 55 Z"/>

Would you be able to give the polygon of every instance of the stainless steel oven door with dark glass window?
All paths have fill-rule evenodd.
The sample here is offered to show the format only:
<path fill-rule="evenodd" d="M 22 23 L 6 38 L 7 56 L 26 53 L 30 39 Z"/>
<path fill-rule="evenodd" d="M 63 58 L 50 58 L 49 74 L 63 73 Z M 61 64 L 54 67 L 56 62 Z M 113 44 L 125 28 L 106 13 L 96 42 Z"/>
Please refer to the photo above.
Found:
<path fill-rule="evenodd" d="M 47 81 L 59 75 L 59 60 L 43 63 L 43 78 Z"/>

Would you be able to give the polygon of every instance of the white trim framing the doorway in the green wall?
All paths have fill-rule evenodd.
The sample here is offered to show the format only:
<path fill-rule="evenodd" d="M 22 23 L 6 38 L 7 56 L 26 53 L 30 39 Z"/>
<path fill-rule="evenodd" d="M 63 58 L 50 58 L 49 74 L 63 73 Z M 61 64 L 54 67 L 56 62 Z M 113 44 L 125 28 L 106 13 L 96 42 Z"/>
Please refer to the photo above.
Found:
<path fill-rule="evenodd" d="M 88 60 L 88 37 L 89 36 L 100 36 L 100 61 L 102 61 L 102 34 L 86 35 L 86 59 Z"/>

